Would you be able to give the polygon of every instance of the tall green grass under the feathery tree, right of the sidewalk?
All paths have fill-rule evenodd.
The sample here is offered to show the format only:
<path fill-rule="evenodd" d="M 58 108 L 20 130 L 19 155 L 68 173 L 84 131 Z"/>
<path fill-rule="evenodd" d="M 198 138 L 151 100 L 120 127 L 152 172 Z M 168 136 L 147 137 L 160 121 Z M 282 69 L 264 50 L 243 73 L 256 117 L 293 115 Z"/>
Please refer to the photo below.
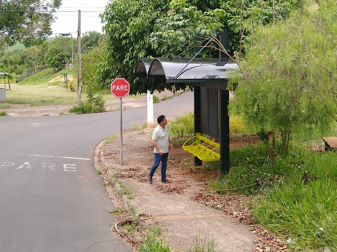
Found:
<path fill-rule="evenodd" d="M 232 150 L 231 172 L 210 181 L 211 187 L 254 195 L 256 223 L 285 234 L 294 248 L 337 251 L 337 154 L 293 145 L 291 154 L 278 156 L 272 169 L 263 143 L 253 153 L 250 147 Z"/>

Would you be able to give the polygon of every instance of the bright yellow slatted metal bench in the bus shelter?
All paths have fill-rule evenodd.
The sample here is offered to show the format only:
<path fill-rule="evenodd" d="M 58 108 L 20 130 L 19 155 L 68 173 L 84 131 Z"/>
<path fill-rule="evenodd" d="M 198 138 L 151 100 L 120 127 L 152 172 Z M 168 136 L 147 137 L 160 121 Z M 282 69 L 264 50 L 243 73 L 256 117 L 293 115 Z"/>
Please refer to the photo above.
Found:
<path fill-rule="evenodd" d="M 220 161 L 220 154 L 214 151 L 220 149 L 220 144 L 203 137 L 200 133 L 195 134 L 183 144 L 183 149 L 202 161 Z M 187 144 L 192 139 L 194 139 L 193 143 L 191 145 Z"/>

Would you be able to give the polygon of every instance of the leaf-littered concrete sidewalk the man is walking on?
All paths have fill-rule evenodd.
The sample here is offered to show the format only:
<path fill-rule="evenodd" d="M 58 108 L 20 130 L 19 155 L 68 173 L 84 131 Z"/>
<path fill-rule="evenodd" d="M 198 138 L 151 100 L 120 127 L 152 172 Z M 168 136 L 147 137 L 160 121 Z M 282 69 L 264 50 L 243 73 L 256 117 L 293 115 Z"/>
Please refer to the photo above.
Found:
<path fill-rule="evenodd" d="M 153 162 L 153 150 L 150 149 L 152 130 L 123 133 L 123 165 L 120 165 L 119 138 L 101 148 L 101 163 L 107 169 L 108 176 L 121 179 L 124 185 L 131 188 L 134 198 L 128 200 L 122 196 L 124 205 L 134 208 L 137 213 L 152 215 L 153 220 L 148 222 L 162 225 L 165 243 L 173 251 L 186 251 L 193 245 L 195 236 L 207 234 L 217 242 L 218 251 L 252 251 L 256 237 L 249 231 L 250 226 L 235 224 L 234 219 L 220 210 L 190 199 L 203 190 L 203 183 L 178 175 L 181 172 L 177 172 L 174 165 L 167 166 L 167 177 L 173 180 L 172 183 L 161 184 L 160 167 L 153 176 L 153 184 L 147 183 L 148 167 Z M 174 153 L 170 150 L 169 161 L 170 156 L 179 156 L 176 149 Z M 165 194 L 158 190 L 172 186 L 183 188 L 184 193 Z M 114 187 L 117 192 L 120 190 L 118 183 Z"/>

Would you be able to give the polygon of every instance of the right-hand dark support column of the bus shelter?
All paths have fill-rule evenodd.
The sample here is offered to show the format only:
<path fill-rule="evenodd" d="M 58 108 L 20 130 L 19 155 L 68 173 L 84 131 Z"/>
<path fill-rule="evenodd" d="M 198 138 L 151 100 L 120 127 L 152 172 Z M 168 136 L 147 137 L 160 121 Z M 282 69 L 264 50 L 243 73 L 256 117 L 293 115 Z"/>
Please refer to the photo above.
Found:
<path fill-rule="evenodd" d="M 194 101 L 195 102 L 195 101 Z M 220 169 L 221 174 L 229 172 L 229 91 L 220 90 Z"/>

